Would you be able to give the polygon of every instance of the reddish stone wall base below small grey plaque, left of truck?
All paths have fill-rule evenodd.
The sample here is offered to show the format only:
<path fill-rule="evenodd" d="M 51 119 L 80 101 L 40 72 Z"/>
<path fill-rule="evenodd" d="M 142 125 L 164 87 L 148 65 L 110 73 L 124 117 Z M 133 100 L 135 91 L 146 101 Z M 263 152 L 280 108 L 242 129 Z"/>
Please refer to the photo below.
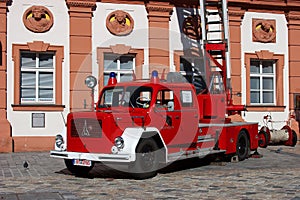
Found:
<path fill-rule="evenodd" d="M 54 149 L 55 137 L 13 137 L 14 152 L 50 151 Z"/>

